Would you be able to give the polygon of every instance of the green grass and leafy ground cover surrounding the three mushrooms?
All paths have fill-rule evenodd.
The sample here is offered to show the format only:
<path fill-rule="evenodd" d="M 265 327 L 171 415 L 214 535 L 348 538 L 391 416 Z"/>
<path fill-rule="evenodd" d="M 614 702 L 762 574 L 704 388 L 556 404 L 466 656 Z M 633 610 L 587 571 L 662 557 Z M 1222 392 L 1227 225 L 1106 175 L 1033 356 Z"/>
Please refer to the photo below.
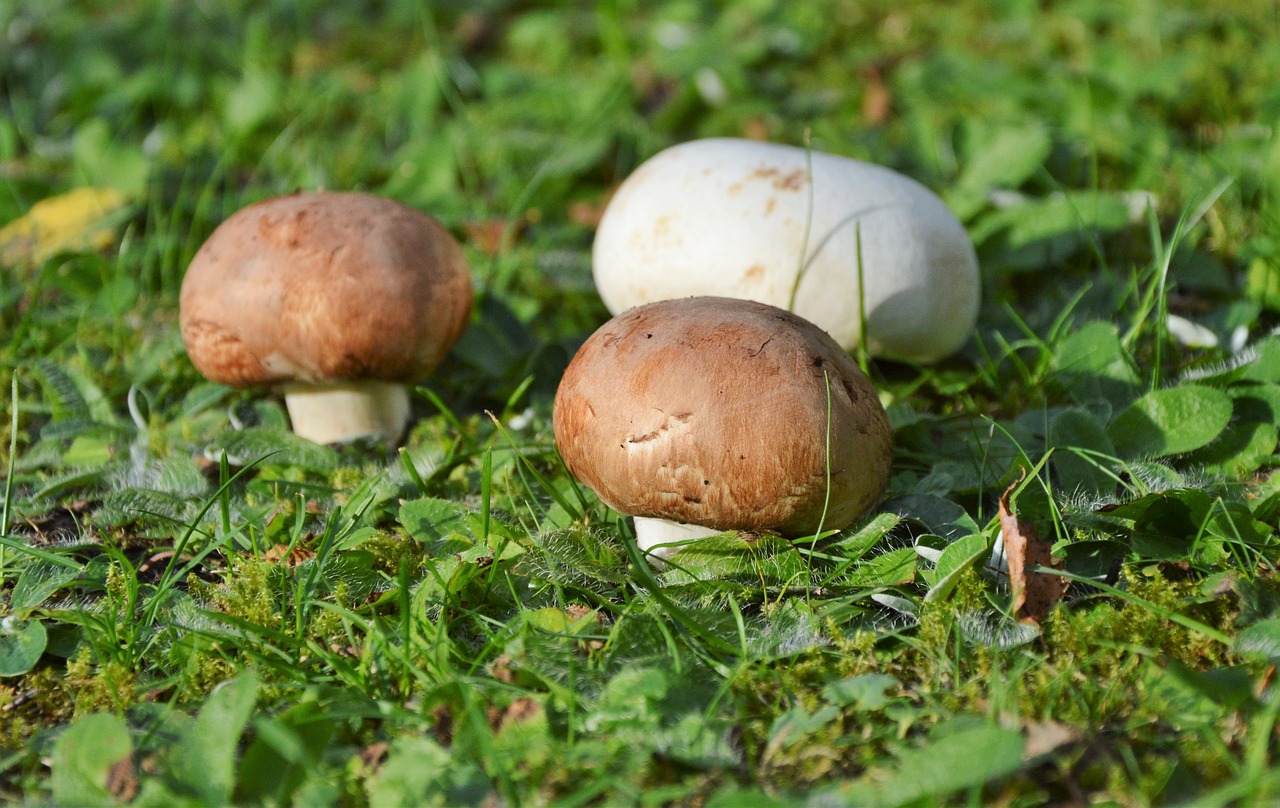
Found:
<path fill-rule="evenodd" d="M 0 31 L 0 223 L 47 216 L 0 232 L 5 800 L 1276 799 L 1271 4 L 14 0 Z M 868 365 L 876 511 L 655 571 L 550 402 L 607 318 L 609 190 L 699 136 L 919 179 L 984 292 L 956 357 Z M 476 269 L 398 453 L 293 438 L 182 348 L 202 239 L 315 187 L 430 211 Z M 1071 580 L 1038 629 L 986 563 L 1019 479 Z"/>

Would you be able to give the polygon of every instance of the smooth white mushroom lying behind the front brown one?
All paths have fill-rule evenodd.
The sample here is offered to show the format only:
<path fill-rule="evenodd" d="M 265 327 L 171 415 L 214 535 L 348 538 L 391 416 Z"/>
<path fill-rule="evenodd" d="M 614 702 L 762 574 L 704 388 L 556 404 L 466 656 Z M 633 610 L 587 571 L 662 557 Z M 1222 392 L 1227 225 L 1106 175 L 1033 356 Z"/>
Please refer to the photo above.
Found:
<path fill-rule="evenodd" d="M 942 200 L 890 169 L 777 143 L 710 138 L 649 159 L 609 200 L 593 268 L 612 314 L 741 297 L 795 311 L 845 350 L 865 314 L 867 350 L 888 359 L 942 359 L 978 316 L 978 261 Z"/>

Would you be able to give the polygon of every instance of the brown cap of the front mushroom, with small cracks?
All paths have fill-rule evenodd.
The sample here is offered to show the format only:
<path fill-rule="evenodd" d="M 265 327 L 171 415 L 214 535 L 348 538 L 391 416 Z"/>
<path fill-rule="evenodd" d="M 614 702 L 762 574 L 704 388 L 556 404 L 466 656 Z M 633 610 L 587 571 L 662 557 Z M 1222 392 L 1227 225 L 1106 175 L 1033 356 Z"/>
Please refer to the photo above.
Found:
<path fill-rule="evenodd" d="M 884 492 L 892 460 L 876 391 L 829 335 L 724 297 L 602 325 L 564 371 L 553 425 L 568 470 L 612 508 L 717 530 L 842 528 Z"/>

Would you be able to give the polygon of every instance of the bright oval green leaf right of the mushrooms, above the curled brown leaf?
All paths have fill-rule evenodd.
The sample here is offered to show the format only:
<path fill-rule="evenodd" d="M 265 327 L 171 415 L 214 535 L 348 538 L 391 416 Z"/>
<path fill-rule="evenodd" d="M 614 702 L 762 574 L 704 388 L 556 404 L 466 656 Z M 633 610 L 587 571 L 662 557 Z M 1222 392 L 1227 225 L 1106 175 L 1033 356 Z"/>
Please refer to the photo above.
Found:
<path fill-rule="evenodd" d="M 1125 458 L 1167 457 L 1208 444 L 1231 420 L 1231 398 L 1211 387 L 1185 384 L 1152 391 L 1107 426 Z"/>

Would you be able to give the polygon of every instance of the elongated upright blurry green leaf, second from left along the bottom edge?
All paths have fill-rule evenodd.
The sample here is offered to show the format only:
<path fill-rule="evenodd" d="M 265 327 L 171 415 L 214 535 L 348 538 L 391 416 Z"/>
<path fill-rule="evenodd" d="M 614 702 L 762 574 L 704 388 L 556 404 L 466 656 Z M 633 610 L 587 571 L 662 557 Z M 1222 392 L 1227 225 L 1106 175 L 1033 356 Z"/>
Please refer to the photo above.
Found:
<path fill-rule="evenodd" d="M 236 752 L 257 699 L 257 676 L 246 671 L 220 684 L 178 740 L 169 775 L 180 791 L 218 805 L 230 802 Z"/>

